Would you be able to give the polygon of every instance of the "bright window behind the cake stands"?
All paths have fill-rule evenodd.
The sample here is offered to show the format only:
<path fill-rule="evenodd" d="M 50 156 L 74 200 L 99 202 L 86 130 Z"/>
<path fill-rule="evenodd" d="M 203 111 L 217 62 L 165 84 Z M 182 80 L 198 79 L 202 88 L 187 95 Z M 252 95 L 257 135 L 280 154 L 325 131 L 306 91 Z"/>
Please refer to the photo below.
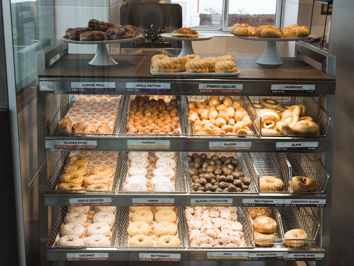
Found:
<path fill-rule="evenodd" d="M 229 31 L 235 23 L 252 26 L 276 24 L 277 4 L 282 0 L 170 0 L 180 4 L 183 27 Z"/>

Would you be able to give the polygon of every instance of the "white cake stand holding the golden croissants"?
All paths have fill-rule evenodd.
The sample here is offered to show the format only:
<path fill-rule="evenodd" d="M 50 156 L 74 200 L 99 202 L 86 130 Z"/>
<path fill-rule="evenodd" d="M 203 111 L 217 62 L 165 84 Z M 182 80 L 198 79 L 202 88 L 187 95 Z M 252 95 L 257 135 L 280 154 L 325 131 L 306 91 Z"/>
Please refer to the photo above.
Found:
<path fill-rule="evenodd" d="M 311 37 L 311 35 L 307 37 L 301 37 L 301 38 L 259 38 L 259 37 L 249 37 L 249 36 L 239 36 L 239 35 L 235 35 L 235 36 L 244 40 L 268 42 L 267 47 L 265 47 L 263 54 L 256 61 L 256 63 L 263 64 L 263 65 L 283 64 L 283 61 L 280 58 L 277 50 L 276 42 L 301 41 L 301 40 L 309 39 Z"/>

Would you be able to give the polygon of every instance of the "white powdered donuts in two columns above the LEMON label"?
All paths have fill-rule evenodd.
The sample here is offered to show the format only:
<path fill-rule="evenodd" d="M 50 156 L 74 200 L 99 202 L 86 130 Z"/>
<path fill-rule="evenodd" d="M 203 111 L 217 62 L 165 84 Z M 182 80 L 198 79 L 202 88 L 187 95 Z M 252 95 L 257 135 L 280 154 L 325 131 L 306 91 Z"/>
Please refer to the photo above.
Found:
<path fill-rule="evenodd" d="M 149 157 L 158 158 L 150 164 Z M 176 153 L 173 151 L 130 151 L 128 153 L 129 168 L 125 179 L 124 191 L 155 191 L 174 192 L 174 177 L 176 169 Z M 152 176 L 151 176 L 152 172 Z M 151 187 L 150 190 L 148 188 Z"/>

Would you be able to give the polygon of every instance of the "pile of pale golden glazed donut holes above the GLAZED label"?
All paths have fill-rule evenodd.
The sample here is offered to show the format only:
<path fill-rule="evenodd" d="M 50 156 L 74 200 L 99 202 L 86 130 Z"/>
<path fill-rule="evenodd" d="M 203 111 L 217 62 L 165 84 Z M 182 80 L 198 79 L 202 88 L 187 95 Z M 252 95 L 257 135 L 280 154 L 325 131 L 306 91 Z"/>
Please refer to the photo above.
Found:
<path fill-rule="evenodd" d="M 252 120 L 241 99 L 230 96 L 210 96 L 203 102 L 188 103 L 189 122 L 194 134 L 199 135 L 254 135 Z"/>

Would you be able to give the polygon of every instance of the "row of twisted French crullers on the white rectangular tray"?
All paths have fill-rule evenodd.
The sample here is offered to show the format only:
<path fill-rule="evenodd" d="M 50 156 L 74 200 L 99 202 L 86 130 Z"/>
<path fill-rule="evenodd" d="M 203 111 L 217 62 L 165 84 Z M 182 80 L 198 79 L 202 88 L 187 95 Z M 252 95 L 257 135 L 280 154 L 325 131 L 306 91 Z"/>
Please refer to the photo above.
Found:
<path fill-rule="evenodd" d="M 184 57 L 168 57 L 158 54 L 151 58 L 151 72 L 183 71 L 187 73 L 234 73 L 239 70 L 231 55 L 201 58 L 195 54 Z"/>

